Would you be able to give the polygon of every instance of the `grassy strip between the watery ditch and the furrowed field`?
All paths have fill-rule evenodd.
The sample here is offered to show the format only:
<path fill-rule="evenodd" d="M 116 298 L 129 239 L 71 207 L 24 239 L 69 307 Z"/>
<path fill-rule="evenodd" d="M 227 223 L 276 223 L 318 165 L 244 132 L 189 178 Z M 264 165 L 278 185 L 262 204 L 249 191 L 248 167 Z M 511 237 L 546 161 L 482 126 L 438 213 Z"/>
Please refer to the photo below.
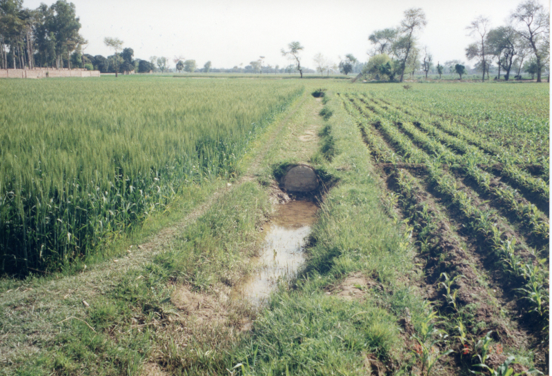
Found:
<path fill-rule="evenodd" d="M 428 314 L 408 284 L 417 278 L 413 247 L 382 210 L 382 187 L 355 124 L 335 101 L 327 106 L 334 116 L 322 148 L 331 137 L 333 159 L 319 161 L 337 183 L 313 226 L 303 273 L 293 288 L 271 295 L 251 337 L 225 361 L 228 369 L 243 364 L 237 370 L 244 375 L 354 375 L 367 373 L 366 359 L 374 356 L 408 369 L 410 349 L 397 323 L 406 308 L 416 328 Z M 384 291 L 365 286 L 364 299 L 351 301 L 326 293 L 358 272 Z"/>

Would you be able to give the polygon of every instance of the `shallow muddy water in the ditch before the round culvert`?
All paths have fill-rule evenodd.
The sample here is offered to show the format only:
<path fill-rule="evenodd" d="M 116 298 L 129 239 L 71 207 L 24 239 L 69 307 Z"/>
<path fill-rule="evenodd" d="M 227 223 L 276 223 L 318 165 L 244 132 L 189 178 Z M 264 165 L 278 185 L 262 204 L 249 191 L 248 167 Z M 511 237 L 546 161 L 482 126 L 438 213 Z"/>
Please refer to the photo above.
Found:
<path fill-rule="evenodd" d="M 233 288 L 233 299 L 245 297 L 260 304 L 278 281 L 297 275 L 305 260 L 304 246 L 317 210 L 311 201 L 290 201 L 277 207 L 275 217 L 264 228 L 262 250 L 254 261 L 257 271 Z"/>

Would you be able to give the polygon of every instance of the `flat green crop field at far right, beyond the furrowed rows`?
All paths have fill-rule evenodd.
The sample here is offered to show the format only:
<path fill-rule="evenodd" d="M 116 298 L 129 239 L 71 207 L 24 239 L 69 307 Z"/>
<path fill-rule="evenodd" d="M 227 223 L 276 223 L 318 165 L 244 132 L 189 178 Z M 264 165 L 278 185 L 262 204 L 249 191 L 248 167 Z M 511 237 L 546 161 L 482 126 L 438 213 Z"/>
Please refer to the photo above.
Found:
<path fill-rule="evenodd" d="M 379 90 L 384 97 L 402 108 L 420 110 L 426 116 L 461 123 L 512 155 L 526 158 L 549 155 L 549 88 L 493 87 L 470 88 L 424 86 L 424 90 Z M 530 162 L 534 163 L 534 162 Z"/>

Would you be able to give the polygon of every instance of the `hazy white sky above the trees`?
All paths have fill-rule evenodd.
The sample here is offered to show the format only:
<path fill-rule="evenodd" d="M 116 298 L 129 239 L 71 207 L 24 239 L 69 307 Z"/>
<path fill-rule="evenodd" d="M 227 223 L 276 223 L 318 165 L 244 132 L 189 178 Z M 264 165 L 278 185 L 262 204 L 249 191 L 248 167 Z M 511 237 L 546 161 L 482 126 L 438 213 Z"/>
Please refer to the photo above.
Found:
<path fill-rule="evenodd" d="M 541 0 L 549 8 L 549 3 Z M 37 8 L 54 0 L 24 0 Z M 72 0 L 81 19 L 81 34 L 90 42 L 85 53 L 111 55 L 104 37 L 118 37 L 135 57 L 172 59 L 182 55 L 199 67 L 210 60 L 214 68 L 248 65 L 260 55 L 272 66 L 286 66 L 280 50 L 291 41 L 304 46 L 302 65 L 315 68 L 313 56 L 353 53 L 366 61 L 373 30 L 397 26 L 408 8 L 422 8 L 428 25 L 420 43 L 428 46 L 435 63 L 466 61 L 464 48 L 473 40 L 466 26 L 480 15 L 492 26 L 504 24 L 522 0 Z M 466 63 L 469 63 L 466 61 Z M 473 63 L 469 63 L 473 65 Z M 174 64 L 171 62 L 171 66 Z"/>

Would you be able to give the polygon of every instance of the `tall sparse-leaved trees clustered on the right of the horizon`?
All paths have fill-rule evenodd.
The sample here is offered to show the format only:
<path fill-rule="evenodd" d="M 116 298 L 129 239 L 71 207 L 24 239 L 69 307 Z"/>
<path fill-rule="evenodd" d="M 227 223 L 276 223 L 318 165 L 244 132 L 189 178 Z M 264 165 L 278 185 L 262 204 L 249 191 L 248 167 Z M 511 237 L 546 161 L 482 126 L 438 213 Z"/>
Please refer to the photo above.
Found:
<path fill-rule="evenodd" d="M 426 16 L 422 9 L 411 8 L 404 12 L 400 26 L 375 30 L 368 37 L 372 48 L 368 51 L 371 58 L 364 66 L 367 77 L 384 81 L 403 81 L 405 74 L 416 72 L 457 74 L 479 72 L 482 79 L 490 79 L 490 73 L 497 74 L 496 79 L 504 72 L 504 79 L 509 80 L 511 72 L 521 78 L 521 71 L 541 81 L 542 72 L 549 72 L 550 63 L 550 22 L 549 12 L 537 0 L 526 0 L 511 12 L 508 23 L 491 28 L 491 21 L 486 17 L 477 17 L 466 27 L 475 39 L 466 48 L 466 58 L 475 61 L 470 68 L 458 60 L 446 61 L 444 66 L 437 62 L 434 66 L 433 56 L 427 46 L 419 46 L 417 33 L 426 26 Z M 496 66 L 493 66 L 493 63 Z"/>

